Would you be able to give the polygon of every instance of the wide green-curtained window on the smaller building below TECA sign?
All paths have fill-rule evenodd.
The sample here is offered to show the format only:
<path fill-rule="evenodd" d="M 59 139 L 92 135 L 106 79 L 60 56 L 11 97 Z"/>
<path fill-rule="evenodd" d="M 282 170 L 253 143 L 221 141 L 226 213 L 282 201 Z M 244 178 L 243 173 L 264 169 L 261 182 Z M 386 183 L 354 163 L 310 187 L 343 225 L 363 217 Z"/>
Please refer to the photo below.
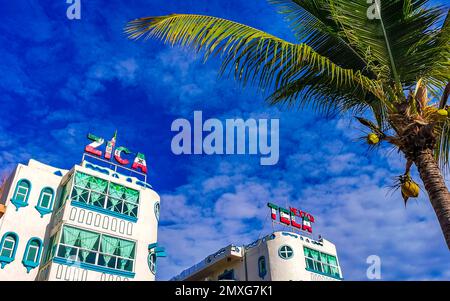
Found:
<path fill-rule="evenodd" d="M 306 269 L 334 278 L 340 278 L 339 265 L 336 256 L 303 247 Z"/>

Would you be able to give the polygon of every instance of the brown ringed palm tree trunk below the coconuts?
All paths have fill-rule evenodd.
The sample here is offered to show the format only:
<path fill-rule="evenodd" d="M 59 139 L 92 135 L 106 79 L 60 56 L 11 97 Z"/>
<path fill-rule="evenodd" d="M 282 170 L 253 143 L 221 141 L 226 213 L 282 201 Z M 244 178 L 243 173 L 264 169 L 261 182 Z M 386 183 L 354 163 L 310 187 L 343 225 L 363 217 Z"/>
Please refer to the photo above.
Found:
<path fill-rule="evenodd" d="M 431 150 L 422 151 L 415 163 L 450 249 L 450 193 L 444 178 Z"/>

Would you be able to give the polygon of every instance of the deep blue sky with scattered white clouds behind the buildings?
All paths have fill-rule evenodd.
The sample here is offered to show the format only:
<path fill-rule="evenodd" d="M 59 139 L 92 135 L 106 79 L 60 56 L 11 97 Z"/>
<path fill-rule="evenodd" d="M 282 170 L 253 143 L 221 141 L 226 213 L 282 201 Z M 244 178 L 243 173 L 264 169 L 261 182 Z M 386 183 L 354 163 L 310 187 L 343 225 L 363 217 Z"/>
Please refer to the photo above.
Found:
<path fill-rule="evenodd" d="M 368 152 L 349 116 L 268 107 L 252 88 L 217 78 L 218 62 L 158 41 L 133 42 L 128 20 L 200 13 L 245 22 L 293 40 L 260 0 L 81 0 L 81 20 L 65 0 L 6 1 L 0 7 L 0 172 L 30 158 L 61 168 L 81 160 L 86 134 L 146 154 L 161 195 L 159 262 L 168 279 L 230 243 L 269 233 L 266 203 L 291 204 L 316 217 L 315 231 L 338 248 L 344 276 L 365 280 L 378 255 L 384 280 L 450 279 L 450 254 L 429 201 L 405 210 L 387 186 L 402 172 L 395 152 Z M 176 118 L 279 118 L 280 161 L 254 156 L 175 156 Z M 145 263 L 142 263 L 145 264 Z"/>

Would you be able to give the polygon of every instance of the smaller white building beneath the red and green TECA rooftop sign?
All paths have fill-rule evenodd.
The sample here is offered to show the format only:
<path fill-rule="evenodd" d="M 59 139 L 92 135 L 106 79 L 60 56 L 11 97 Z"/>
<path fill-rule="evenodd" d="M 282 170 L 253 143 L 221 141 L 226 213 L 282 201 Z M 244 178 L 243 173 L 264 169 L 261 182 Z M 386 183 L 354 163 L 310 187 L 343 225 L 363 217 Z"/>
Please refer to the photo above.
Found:
<path fill-rule="evenodd" d="M 277 231 L 246 246 L 222 248 L 172 280 L 336 281 L 343 276 L 334 244 Z"/>

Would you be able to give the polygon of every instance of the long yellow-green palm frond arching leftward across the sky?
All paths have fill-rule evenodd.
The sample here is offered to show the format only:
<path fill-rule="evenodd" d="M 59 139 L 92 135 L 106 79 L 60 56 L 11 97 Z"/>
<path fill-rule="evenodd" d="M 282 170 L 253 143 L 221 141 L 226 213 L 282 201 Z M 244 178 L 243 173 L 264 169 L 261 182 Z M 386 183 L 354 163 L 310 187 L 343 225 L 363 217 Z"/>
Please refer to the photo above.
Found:
<path fill-rule="evenodd" d="M 237 22 L 202 15 L 174 14 L 131 21 L 125 27 L 130 39 L 156 38 L 204 51 L 204 59 L 221 55 L 222 74 L 229 69 L 244 85 L 275 89 L 313 72 L 339 89 L 352 85 L 383 97 L 380 84 L 359 70 L 346 69 L 320 55 L 307 44 L 293 44 Z"/>

